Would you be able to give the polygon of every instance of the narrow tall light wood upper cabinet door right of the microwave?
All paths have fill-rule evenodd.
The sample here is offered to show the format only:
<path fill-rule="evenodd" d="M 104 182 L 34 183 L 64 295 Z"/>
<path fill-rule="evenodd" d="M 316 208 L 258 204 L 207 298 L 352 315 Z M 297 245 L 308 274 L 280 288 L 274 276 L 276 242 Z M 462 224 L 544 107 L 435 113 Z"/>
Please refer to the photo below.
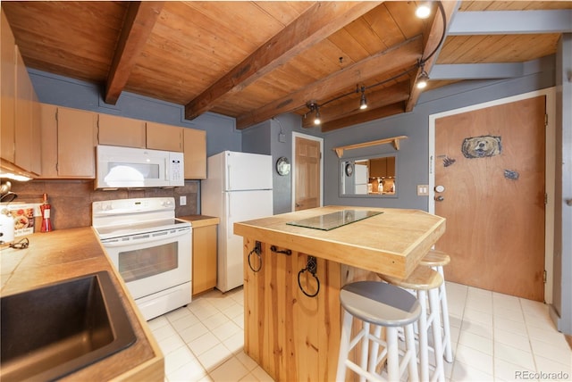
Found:
<path fill-rule="evenodd" d="M 206 179 L 206 131 L 183 129 L 185 179 Z"/>

